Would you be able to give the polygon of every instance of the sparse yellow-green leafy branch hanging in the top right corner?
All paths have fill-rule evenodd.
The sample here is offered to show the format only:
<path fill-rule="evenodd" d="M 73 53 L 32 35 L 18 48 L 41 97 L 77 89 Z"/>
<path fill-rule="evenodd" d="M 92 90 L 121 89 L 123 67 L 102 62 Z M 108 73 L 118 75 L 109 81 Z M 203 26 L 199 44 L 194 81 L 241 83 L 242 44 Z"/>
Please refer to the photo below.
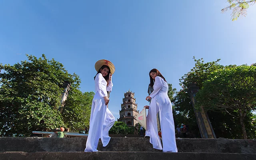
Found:
<path fill-rule="evenodd" d="M 247 15 L 247 9 L 250 5 L 254 5 L 256 0 L 228 0 L 229 5 L 221 10 L 222 13 L 232 10 L 232 21 L 237 20 L 240 16 Z"/>

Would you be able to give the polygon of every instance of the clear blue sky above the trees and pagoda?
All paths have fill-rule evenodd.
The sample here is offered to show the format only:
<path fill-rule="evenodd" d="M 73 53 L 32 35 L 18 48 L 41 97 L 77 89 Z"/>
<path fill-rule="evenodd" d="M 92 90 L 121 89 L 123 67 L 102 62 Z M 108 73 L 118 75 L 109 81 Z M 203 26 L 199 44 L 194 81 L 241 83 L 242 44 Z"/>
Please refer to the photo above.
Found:
<path fill-rule="evenodd" d="M 80 76 L 82 92 L 94 91 L 94 64 L 114 63 L 109 108 L 119 118 L 124 92 L 135 92 L 138 110 L 147 105 L 148 72 L 157 68 L 180 89 L 179 78 L 193 56 L 220 64 L 256 62 L 256 5 L 230 20 L 225 0 L 2 0 L 0 62 L 15 64 L 25 54 L 64 64 Z"/>

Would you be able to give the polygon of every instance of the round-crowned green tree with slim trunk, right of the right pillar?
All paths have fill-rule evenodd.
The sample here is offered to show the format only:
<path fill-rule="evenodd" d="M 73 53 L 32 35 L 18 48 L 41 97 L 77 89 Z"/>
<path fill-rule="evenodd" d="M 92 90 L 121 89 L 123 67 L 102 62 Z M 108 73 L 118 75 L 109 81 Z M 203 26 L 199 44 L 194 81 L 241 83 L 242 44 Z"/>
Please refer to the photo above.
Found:
<path fill-rule="evenodd" d="M 196 95 L 196 106 L 205 110 L 227 112 L 238 118 L 244 139 L 247 139 L 244 119 L 256 110 L 256 67 L 226 66 L 212 72 Z"/>

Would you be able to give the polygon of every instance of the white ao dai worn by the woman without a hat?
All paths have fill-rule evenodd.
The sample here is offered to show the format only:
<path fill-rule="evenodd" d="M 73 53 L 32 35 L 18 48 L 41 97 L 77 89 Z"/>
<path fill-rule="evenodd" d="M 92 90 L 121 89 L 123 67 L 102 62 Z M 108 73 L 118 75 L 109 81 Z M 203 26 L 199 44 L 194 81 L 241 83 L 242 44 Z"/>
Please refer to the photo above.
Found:
<path fill-rule="evenodd" d="M 154 91 L 150 94 L 151 103 L 148 110 L 150 128 L 150 143 L 153 148 L 163 152 L 178 152 L 175 138 L 175 127 L 172 116 L 172 104 L 168 97 L 168 83 L 163 78 L 156 76 Z M 158 136 L 156 114 L 160 112 L 160 125 L 163 147 Z"/>

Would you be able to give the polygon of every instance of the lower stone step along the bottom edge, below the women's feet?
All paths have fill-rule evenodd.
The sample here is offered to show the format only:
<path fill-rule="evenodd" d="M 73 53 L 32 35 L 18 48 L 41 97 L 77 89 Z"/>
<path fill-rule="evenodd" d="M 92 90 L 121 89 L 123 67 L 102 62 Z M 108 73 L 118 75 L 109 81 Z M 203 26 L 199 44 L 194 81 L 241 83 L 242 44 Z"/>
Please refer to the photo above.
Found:
<path fill-rule="evenodd" d="M 255 160 L 256 154 L 163 152 L 0 152 L 0 160 Z"/>

